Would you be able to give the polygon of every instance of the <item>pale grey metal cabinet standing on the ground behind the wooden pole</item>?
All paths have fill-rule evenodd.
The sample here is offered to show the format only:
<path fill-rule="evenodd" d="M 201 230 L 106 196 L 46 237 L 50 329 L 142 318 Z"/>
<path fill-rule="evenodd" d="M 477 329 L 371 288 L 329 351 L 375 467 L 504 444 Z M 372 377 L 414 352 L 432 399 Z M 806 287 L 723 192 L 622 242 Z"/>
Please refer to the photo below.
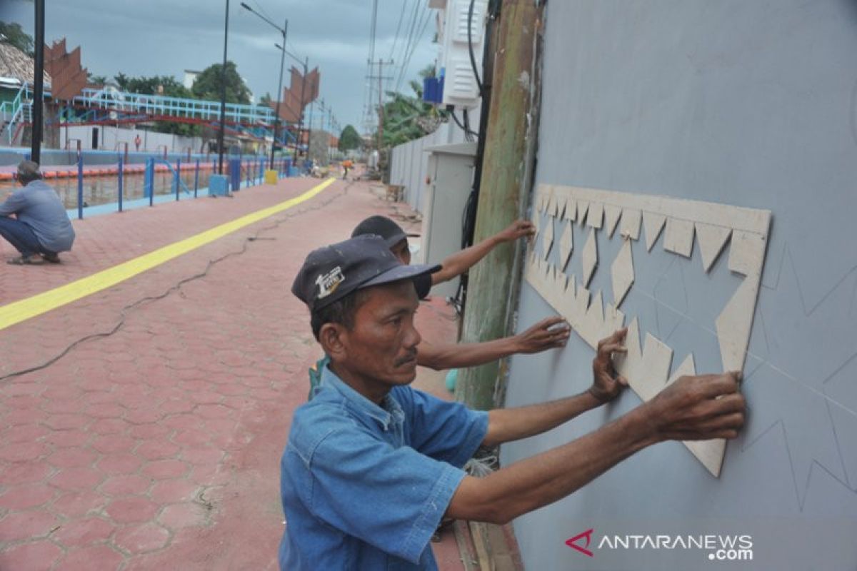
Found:
<path fill-rule="evenodd" d="M 427 188 L 423 193 L 423 236 L 417 254 L 420 263 L 440 264 L 461 250 L 464 208 L 473 186 L 476 143 L 426 147 Z M 458 277 L 432 288 L 433 295 L 451 297 L 458 290 Z"/>

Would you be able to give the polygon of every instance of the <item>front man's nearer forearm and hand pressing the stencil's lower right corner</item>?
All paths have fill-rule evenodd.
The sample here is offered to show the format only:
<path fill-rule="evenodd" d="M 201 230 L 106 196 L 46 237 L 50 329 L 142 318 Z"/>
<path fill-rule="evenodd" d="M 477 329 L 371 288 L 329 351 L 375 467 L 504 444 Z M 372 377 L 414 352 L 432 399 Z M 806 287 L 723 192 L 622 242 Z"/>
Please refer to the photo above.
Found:
<path fill-rule="evenodd" d="M 446 515 L 506 523 L 566 497 L 628 456 L 666 440 L 734 438 L 744 424 L 737 373 L 683 377 L 601 429 L 501 468 L 465 476 Z"/>

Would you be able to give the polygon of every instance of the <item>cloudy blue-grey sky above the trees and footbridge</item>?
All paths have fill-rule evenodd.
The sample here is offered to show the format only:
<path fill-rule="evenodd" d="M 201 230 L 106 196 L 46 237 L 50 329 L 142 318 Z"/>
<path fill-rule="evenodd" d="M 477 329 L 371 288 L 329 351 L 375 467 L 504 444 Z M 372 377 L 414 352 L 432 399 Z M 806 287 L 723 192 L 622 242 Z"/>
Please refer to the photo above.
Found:
<path fill-rule="evenodd" d="M 372 1 L 244 1 L 280 26 L 289 19 L 288 50 L 309 57 L 310 68 L 319 67 L 321 98 L 340 125 L 351 123 L 363 130 Z M 417 28 L 426 22 L 406 68 L 403 90 L 409 89 L 407 80 L 416 79 L 418 70 L 437 55 L 431 43 L 434 15 L 428 14 L 434 10 L 426 3 L 378 0 L 376 60 L 392 57 L 396 65 L 405 61 L 411 27 L 417 37 Z M 223 59 L 225 0 L 48 0 L 46 5 L 47 42 L 65 36 L 69 49 L 80 45 L 84 67 L 96 75 L 111 77 L 122 71 L 182 80 L 185 69 L 203 69 Z M 33 3 L 0 0 L 0 20 L 17 22 L 32 34 Z M 273 45 L 279 39 L 277 30 L 243 9 L 240 0 L 230 0 L 229 59 L 237 63 L 256 98 L 277 92 L 279 51 Z M 289 63 L 286 58 L 286 86 Z M 391 68 L 389 74 L 398 79 L 399 69 Z M 392 89 L 396 80 L 389 83 Z"/>

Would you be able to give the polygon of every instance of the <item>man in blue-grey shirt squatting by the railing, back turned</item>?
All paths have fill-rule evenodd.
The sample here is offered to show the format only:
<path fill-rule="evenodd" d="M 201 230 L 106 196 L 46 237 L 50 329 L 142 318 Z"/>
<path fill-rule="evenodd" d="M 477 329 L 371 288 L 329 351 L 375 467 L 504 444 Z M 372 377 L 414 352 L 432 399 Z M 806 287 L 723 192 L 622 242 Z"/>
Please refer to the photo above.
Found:
<path fill-rule="evenodd" d="M 75 242 L 75 229 L 63 203 L 57 191 L 42 181 L 38 163 L 21 161 L 16 178 L 23 188 L 0 205 L 0 236 L 21 254 L 8 263 L 58 264 L 59 253 L 68 252 Z"/>

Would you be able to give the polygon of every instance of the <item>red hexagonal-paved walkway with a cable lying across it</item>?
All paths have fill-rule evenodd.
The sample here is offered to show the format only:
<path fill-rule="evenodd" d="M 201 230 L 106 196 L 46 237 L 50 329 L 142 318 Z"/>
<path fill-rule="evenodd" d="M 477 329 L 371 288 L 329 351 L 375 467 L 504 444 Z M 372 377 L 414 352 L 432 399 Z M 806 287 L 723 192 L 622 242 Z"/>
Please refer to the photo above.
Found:
<path fill-rule="evenodd" d="M 320 182 L 75 221 L 63 264 L 0 265 L 0 313 Z M 276 568 L 279 456 L 320 353 L 291 280 L 311 249 L 391 206 L 335 181 L 93 294 L 0 318 L 0 569 Z M 442 300 L 418 319 L 429 340 L 454 337 Z M 434 548 L 463 568 L 451 533 Z"/>

